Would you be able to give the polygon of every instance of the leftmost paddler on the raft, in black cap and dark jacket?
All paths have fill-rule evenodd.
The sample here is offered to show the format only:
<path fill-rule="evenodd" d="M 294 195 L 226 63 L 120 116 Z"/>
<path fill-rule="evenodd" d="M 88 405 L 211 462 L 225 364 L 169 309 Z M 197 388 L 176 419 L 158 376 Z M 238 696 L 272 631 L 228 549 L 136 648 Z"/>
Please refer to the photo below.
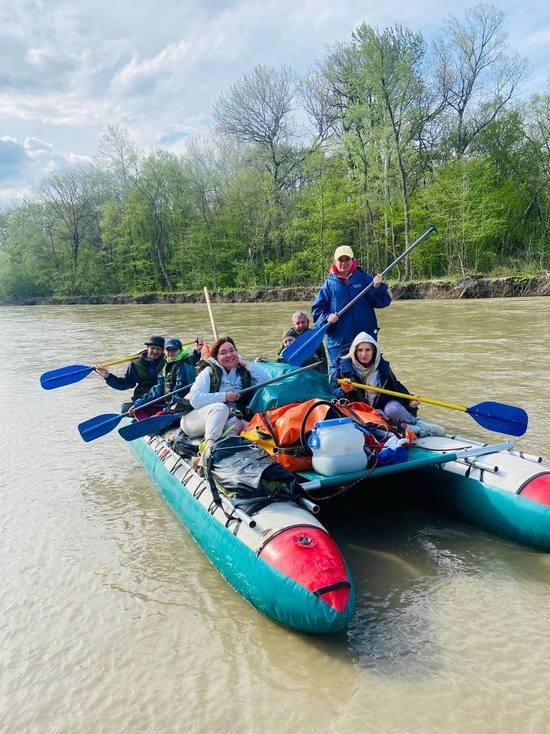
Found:
<path fill-rule="evenodd" d="M 97 367 L 96 372 L 101 375 L 109 387 L 115 390 L 134 389 L 131 402 L 122 404 L 122 412 L 125 413 L 134 403 L 147 393 L 153 385 L 157 384 L 159 372 L 165 365 L 163 355 L 164 337 L 154 335 L 145 341 L 143 352 L 137 359 L 128 365 L 124 377 L 113 375 L 106 367 Z"/>

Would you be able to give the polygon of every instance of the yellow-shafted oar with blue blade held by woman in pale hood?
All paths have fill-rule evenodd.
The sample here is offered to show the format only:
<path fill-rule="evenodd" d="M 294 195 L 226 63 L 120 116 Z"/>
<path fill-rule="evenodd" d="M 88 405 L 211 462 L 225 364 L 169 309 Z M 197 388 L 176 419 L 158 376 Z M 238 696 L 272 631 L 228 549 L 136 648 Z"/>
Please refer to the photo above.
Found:
<path fill-rule="evenodd" d="M 338 380 L 341 385 L 344 380 Z M 515 405 L 506 405 L 505 403 L 495 403 L 487 401 L 484 403 L 477 403 L 469 408 L 465 405 L 457 405 L 456 403 L 444 403 L 441 400 L 434 400 L 433 398 L 421 398 L 418 395 L 408 395 L 407 393 L 394 392 L 393 390 L 386 390 L 382 387 L 374 387 L 373 385 L 362 385 L 360 382 L 352 382 L 353 387 L 357 387 L 361 390 L 370 390 L 372 392 L 379 392 L 383 395 L 392 395 L 396 398 L 406 398 L 407 400 L 417 400 L 419 403 L 427 403 L 428 405 L 437 405 L 440 408 L 449 408 L 450 410 L 460 410 L 463 413 L 468 413 L 472 418 L 479 423 L 480 426 L 486 428 L 488 431 L 496 431 L 497 433 L 506 433 L 509 436 L 523 436 L 527 430 L 527 423 L 529 416 L 523 410 Z"/>

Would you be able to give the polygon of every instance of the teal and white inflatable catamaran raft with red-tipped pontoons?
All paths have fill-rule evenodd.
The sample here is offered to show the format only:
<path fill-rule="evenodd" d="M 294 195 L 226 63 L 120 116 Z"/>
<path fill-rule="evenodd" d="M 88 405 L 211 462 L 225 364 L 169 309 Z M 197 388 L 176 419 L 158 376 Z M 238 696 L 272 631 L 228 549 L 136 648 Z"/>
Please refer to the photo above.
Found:
<path fill-rule="evenodd" d="M 272 373 L 289 369 L 265 367 Z M 292 399 L 306 400 L 312 393 L 323 394 L 323 389 L 326 393 L 320 379 L 315 373 L 290 377 L 259 391 L 252 407 L 266 410 Z M 401 463 L 333 476 L 304 471 L 295 476 L 301 496 L 278 496 L 258 507 L 254 501 L 218 493 L 191 466 L 192 452 L 186 456 L 178 451 L 173 438 L 173 432 L 168 432 L 130 445 L 161 495 L 231 586 L 261 612 L 293 629 L 333 633 L 344 629 L 353 615 L 355 592 L 349 568 L 317 517 L 316 495 L 325 496 L 331 487 L 340 491 L 363 481 L 375 492 L 376 479 L 394 475 L 399 484 L 414 488 L 415 495 L 421 489 L 423 499 L 436 508 L 520 543 L 550 550 L 550 467 L 540 457 L 515 451 L 511 441 L 483 444 L 460 436 L 417 439 Z M 242 461 L 246 474 L 246 459 Z"/>

